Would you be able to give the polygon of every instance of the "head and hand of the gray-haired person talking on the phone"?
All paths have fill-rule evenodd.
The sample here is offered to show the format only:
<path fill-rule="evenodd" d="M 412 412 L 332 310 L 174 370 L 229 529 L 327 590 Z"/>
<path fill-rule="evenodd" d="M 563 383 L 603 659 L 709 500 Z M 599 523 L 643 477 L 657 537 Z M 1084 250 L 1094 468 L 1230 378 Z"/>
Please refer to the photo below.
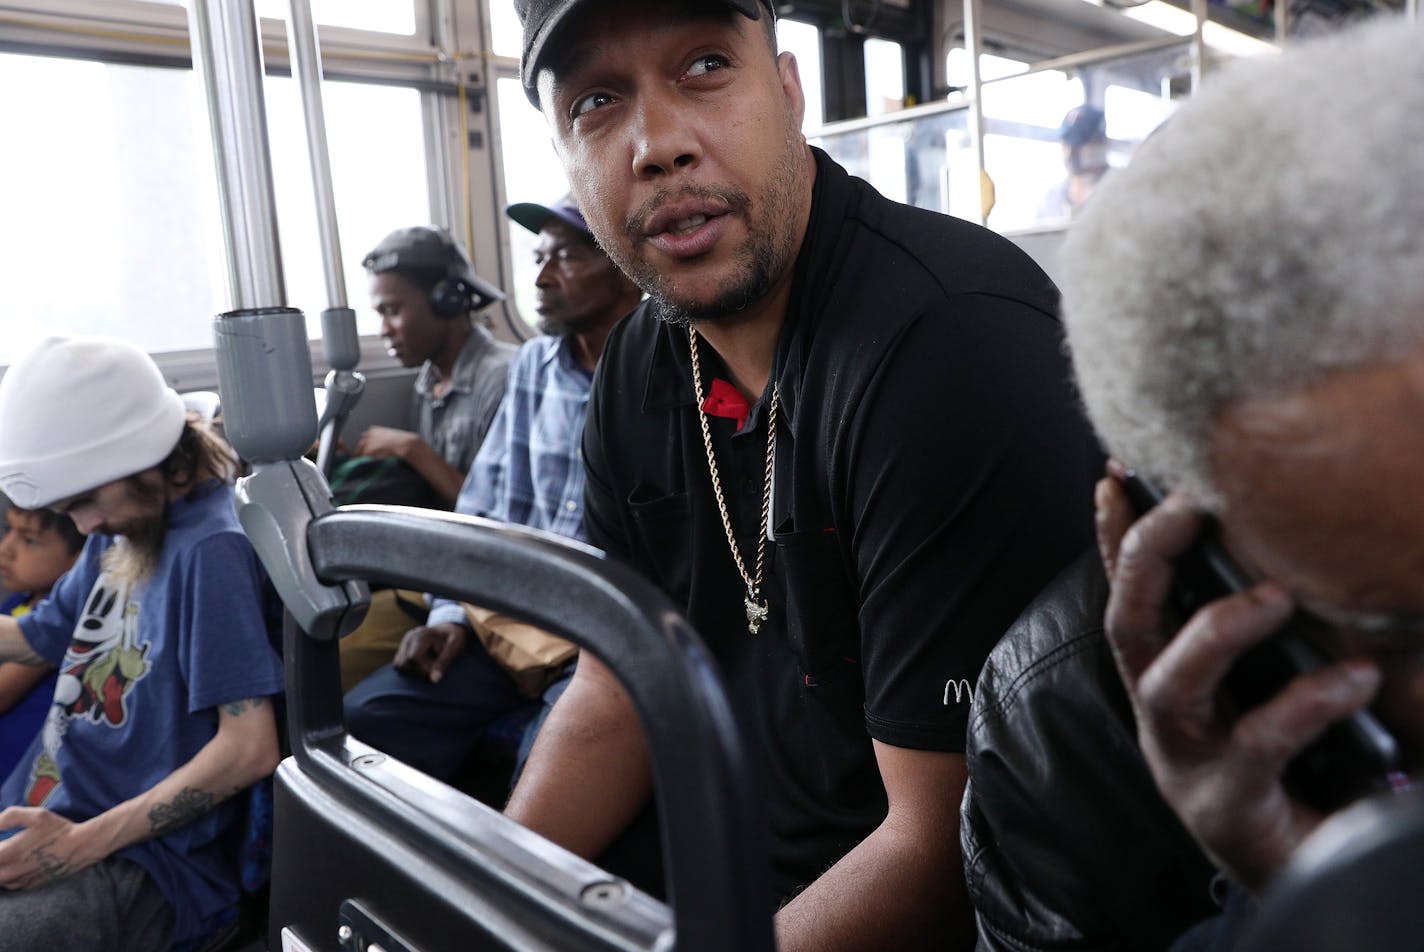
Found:
<path fill-rule="evenodd" d="M 1065 248 L 1088 411 L 1176 490 L 1136 518 L 1122 470 L 1098 487 L 1108 638 L 1158 786 L 1247 894 L 1324 818 L 1282 778 L 1327 726 L 1370 709 L 1424 750 L 1421 114 L 1424 31 L 1393 18 L 1226 70 Z M 1178 619 L 1208 517 L 1253 583 Z M 1320 667 L 1219 703 L 1294 613 Z"/>

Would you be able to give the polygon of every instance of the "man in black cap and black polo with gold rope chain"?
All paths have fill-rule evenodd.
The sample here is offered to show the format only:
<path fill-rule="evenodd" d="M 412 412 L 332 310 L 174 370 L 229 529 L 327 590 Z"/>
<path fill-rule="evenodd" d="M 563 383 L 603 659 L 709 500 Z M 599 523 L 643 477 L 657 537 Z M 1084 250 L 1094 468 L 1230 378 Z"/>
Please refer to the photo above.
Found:
<path fill-rule="evenodd" d="M 1052 285 L 810 148 L 769 4 L 515 6 L 525 94 L 649 295 L 594 381 L 588 535 L 726 675 L 780 948 L 968 948 L 965 689 L 1091 542 Z M 649 798 L 637 723 L 581 659 L 508 814 L 598 855 Z"/>

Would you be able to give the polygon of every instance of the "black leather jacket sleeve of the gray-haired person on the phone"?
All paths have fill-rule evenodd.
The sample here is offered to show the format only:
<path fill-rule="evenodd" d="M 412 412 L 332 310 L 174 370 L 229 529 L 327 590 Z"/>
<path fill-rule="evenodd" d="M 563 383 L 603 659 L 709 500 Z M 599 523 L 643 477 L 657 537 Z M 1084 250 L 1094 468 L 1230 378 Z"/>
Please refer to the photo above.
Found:
<path fill-rule="evenodd" d="M 1215 871 L 1138 749 L 1106 598 L 1088 552 L 980 676 L 961 838 L 981 951 L 1165 949 L 1216 912 Z"/>

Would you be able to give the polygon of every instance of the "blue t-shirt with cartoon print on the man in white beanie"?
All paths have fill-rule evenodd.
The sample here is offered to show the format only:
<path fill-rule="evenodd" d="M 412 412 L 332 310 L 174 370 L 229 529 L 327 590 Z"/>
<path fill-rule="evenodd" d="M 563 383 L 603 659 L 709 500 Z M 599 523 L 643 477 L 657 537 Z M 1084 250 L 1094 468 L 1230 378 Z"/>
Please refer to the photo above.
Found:
<path fill-rule="evenodd" d="M 101 572 L 114 536 L 90 536 L 50 599 L 20 619 L 58 666 L 54 703 L 0 807 L 88 820 L 150 790 L 216 736 L 219 704 L 282 690 L 278 602 L 232 508 L 212 482 L 169 504 L 162 551 L 132 591 Z M 198 938 L 239 897 L 229 837 L 245 797 L 120 851 L 174 906 L 174 942 Z"/>

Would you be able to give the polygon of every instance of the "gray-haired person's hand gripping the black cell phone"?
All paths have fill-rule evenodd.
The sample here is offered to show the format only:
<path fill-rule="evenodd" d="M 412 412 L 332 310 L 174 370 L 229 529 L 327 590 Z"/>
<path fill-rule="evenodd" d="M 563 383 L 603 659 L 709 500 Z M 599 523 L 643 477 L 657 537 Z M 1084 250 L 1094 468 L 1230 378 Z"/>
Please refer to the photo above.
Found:
<path fill-rule="evenodd" d="M 1185 620 L 1171 610 L 1176 561 L 1203 518 L 1169 495 L 1142 518 L 1109 464 L 1098 484 L 1098 551 L 1112 582 L 1106 636 L 1132 699 L 1138 739 L 1163 797 L 1215 861 L 1260 892 L 1323 815 L 1293 798 L 1286 764 L 1326 727 L 1363 709 L 1378 687 L 1367 660 L 1327 663 L 1263 703 L 1233 712 L 1222 682 L 1249 647 L 1293 612 L 1263 582 L 1208 602 Z"/>

